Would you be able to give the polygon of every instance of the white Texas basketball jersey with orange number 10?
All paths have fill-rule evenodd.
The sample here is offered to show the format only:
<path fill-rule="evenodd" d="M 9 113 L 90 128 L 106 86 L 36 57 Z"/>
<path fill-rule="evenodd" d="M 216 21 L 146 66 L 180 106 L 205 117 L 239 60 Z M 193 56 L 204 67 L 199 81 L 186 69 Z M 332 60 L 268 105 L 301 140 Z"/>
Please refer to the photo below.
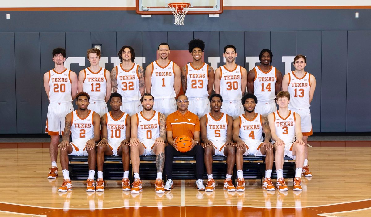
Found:
<path fill-rule="evenodd" d="M 126 139 L 126 120 L 128 114 L 122 112 L 122 115 L 115 119 L 111 112 L 105 114 L 107 125 L 107 139 L 108 144 L 117 144 Z"/>

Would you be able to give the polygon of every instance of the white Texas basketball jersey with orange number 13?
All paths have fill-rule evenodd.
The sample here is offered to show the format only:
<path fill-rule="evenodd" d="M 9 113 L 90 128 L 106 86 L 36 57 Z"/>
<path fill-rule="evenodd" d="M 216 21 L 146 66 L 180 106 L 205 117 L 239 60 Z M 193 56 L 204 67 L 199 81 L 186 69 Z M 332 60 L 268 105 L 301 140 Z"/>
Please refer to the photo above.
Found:
<path fill-rule="evenodd" d="M 305 72 L 302 78 L 295 76 L 294 72 L 289 72 L 289 86 L 287 91 L 290 93 L 289 108 L 306 109 L 309 104 L 309 91 L 311 90 L 311 74 Z"/>

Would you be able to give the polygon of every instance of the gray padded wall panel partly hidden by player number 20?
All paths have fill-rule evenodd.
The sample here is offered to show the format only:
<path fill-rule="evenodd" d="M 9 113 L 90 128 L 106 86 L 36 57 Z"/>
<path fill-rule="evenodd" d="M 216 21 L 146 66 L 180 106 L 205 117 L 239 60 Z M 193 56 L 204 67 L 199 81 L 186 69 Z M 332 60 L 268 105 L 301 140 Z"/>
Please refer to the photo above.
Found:
<path fill-rule="evenodd" d="M 54 68 L 54 62 L 52 60 L 52 52 L 56 47 L 66 47 L 65 43 L 65 33 L 64 32 L 40 32 L 40 79 L 41 79 L 41 113 L 42 122 L 41 127 L 45 129 L 46 116 L 47 116 L 47 106 L 49 105 L 49 100 L 45 93 L 45 88 L 43 85 L 44 73 Z M 43 131 L 44 132 L 44 131 Z"/>

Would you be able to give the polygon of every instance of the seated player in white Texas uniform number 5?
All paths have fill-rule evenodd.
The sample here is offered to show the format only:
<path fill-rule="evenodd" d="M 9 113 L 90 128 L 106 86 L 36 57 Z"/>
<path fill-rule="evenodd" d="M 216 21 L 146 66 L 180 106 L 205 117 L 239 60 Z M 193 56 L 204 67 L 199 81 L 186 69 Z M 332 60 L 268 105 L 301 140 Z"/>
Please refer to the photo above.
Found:
<path fill-rule="evenodd" d="M 213 179 L 213 156 L 227 157 L 227 177 L 224 180 L 223 189 L 235 191 L 233 186 L 232 172 L 236 160 L 236 152 L 232 142 L 233 118 L 220 111 L 223 98 L 219 94 L 210 96 L 211 112 L 200 119 L 201 141 L 204 142 L 204 161 L 207 172 L 207 184 L 205 191 L 214 191 Z"/>

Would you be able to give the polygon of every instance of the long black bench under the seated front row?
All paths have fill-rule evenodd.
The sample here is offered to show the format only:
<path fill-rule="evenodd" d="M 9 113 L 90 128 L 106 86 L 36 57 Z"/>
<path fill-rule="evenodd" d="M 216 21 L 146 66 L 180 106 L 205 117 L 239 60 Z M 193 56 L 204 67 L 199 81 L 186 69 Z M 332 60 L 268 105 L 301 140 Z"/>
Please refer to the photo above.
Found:
<path fill-rule="evenodd" d="M 86 180 L 88 178 L 88 156 L 72 156 L 69 158 L 69 172 L 71 180 Z M 141 164 L 139 167 L 139 174 L 142 180 L 155 180 L 157 176 L 157 169 L 155 165 L 156 156 L 140 156 Z M 227 172 L 226 157 L 213 157 L 213 177 L 214 179 L 224 179 Z M 243 176 L 244 179 L 260 179 L 265 175 L 265 157 L 255 157 L 254 155 L 243 157 Z M 284 158 L 283 163 L 283 177 L 293 178 L 295 176 L 295 161 L 289 157 Z M 97 171 L 97 170 L 96 170 Z M 276 176 L 275 165 L 273 164 L 273 171 L 271 178 Z M 103 178 L 104 180 L 121 180 L 123 177 L 123 169 L 121 156 L 105 156 L 103 164 Z M 129 166 L 129 178 L 132 179 L 132 168 Z M 173 179 L 196 179 L 196 160 L 194 156 L 178 155 L 173 158 Z M 233 180 L 236 178 L 236 167 L 233 170 Z M 164 177 L 165 178 L 165 177 Z M 207 174 L 203 176 L 207 180 Z M 95 175 L 96 179 L 96 175 Z"/>

